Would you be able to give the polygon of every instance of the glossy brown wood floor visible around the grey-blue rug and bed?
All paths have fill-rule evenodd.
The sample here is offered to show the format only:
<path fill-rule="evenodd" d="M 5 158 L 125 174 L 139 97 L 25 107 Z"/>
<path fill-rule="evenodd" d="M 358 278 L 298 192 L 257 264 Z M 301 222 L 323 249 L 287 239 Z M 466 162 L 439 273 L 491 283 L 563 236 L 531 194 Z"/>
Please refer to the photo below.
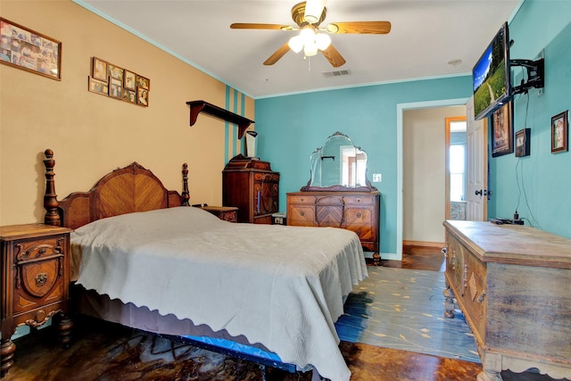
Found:
<path fill-rule="evenodd" d="M 426 247 L 405 247 L 403 261 L 382 261 L 382 266 L 401 269 L 426 269 L 434 271 L 443 270 L 443 255 L 439 249 Z M 78 322 L 78 325 L 81 321 Z M 87 347 L 86 351 L 75 352 L 64 350 L 54 344 L 50 328 L 40 330 L 34 335 L 27 335 L 15 340 L 17 350 L 14 355 L 15 365 L 3 378 L 3 381 L 60 381 L 60 380 L 209 380 L 213 377 L 201 373 L 197 369 L 184 373 L 153 365 L 152 371 L 148 364 L 134 363 L 133 357 L 123 353 L 124 361 L 113 364 L 113 369 L 102 369 L 98 362 L 101 356 L 98 351 L 109 347 L 128 337 L 129 330 L 122 327 L 109 327 L 104 323 L 77 327 L 74 346 Z M 378 380 L 378 381 L 465 381 L 476 380 L 476 375 L 482 370 L 477 363 L 444 359 L 435 356 L 404 352 L 399 350 L 379 348 L 367 344 L 352 344 L 343 342 L 341 345 L 343 356 L 352 371 L 352 381 Z M 73 354 L 70 354 L 73 353 Z M 62 364 L 62 365 L 60 365 Z M 63 367 L 67 370 L 62 370 Z M 145 368 L 146 367 L 146 368 Z M 237 367 L 237 365 L 236 365 Z M 248 368 L 249 367 L 249 368 Z M 60 369 L 58 369 L 60 368 Z M 109 366 L 111 368 L 111 366 Z M 234 372 L 232 377 L 216 379 L 253 380 L 262 379 L 262 372 L 246 364 L 242 373 Z M 70 371 L 69 369 L 74 369 Z M 145 369 L 145 370 L 142 370 Z M 186 369 L 185 369 L 186 370 Z M 105 376 L 101 376 L 104 374 Z M 308 374 L 288 374 L 283 371 L 269 369 L 267 380 L 276 381 L 309 381 Z M 504 381 L 546 381 L 550 377 L 527 372 L 514 374 L 502 372 Z"/>

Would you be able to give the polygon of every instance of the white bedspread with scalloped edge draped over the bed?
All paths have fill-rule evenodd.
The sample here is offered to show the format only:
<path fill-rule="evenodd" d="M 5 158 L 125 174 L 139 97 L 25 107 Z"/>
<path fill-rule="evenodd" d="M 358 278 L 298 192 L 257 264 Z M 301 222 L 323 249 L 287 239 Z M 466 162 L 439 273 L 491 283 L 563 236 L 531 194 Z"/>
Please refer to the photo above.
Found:
<path fill-rule="evenodd" d="M 334 326 L 343 296 L 367 277 L 351 231 L 236 224 L 178 207 L 100 219 L 71 242 L 87 289 L 245 335 L 334 381 L 351 376 Z"/>

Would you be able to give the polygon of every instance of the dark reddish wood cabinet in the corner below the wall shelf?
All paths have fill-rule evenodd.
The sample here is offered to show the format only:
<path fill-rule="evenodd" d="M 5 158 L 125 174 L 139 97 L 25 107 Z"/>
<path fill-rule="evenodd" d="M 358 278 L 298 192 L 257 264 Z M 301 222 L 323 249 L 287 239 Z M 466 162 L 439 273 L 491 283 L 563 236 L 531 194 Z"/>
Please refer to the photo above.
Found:
<path fill-rule="evenodd" d="M 271 224 L 279 211 L 279 173 L 269 162 L 238 155 L 222 171 L 224 205 L 238 208 L 238 222 Z"/>

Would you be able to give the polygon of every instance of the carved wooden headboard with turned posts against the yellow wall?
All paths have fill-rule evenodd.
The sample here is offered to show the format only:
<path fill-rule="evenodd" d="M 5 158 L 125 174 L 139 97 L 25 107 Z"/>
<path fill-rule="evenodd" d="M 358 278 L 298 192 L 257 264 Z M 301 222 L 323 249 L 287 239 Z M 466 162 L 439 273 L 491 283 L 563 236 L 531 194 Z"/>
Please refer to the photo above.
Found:
<path fill-rule="evenodd" d="M 167 189 L 153 172 L 133 162 L 103 176 L 88 192 L 74 192 L 58 201 L 54 182 L 54 152 L 47 149 L 45 154 L 44 222 L 47 225 L 79 228 L 96 219 L 188 205 L 190 196 L 186 163 L 182 166 L 182 195 Z"/>

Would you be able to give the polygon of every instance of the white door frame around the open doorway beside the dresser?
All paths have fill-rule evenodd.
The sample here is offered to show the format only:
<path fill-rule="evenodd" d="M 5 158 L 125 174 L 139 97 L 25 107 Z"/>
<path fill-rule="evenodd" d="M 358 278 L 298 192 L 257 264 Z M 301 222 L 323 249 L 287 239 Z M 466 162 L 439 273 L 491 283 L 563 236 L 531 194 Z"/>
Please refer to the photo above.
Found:
<path fill-rule="evenodd" d="M 384 260 L 402 261 L 402 199 L 403 197 L 403 124 L 404 112 L 445 106 L 465 105 L 469 98 L 443 99 L 439 101 L 413 102 L 396 105 L 396 253 L 383 253 Z"/>

